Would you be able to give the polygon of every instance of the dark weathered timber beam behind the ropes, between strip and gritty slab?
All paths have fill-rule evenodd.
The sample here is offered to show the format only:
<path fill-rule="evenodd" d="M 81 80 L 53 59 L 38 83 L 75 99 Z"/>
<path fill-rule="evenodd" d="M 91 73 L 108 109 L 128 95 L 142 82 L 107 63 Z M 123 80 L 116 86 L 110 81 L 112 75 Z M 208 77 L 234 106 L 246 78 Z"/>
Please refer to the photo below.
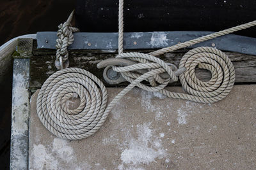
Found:
<path fill-rule="evenodd" d="M 35 47 L 35 46 L 34 46 Z M 148 53 L 152 50 L 141 50 L 140 52 Z M 180 59 L 188 50 L 180 50 L 174 53 L 166 53 L 161 55 L 160 58 L 166 62 L 170 62 L 179 65 Z M 44 53 L 44 55 L 42 55 Z M 255 83 L 256 82 L 256 57 L 253 55 L 244 55 L 240 53 L 226 52 L 228 57 L 232 60 L 236 69 L 236 83 Z M 47 54 L 47 55 L 45 55 Z M 114 51 L 94 51 L 94 50 L 71 50 L 70 51 L 70 67 L 80 67 L 95 74 L 107 87 L 102 77 L 104 69 L 97 69 L 96 65 L 98 62 L 104 59 L 113 58 L 116 56 Z M 44 81 L 54 72 L 57 71 L 54 66 L 55 51 L 54 50 L 34 50 L 33 56 L 31 57 L 31 90 L 39 89 Z M 196 70 L 196 75 L 200 80 L 209 80 L 211 74 L 209 71 L 200 69 Z M 124 86 L 127 83 L 118 84 L 115 86 Z M 172 83 L 171 85 L 179 85 L 179 82 Z"/>

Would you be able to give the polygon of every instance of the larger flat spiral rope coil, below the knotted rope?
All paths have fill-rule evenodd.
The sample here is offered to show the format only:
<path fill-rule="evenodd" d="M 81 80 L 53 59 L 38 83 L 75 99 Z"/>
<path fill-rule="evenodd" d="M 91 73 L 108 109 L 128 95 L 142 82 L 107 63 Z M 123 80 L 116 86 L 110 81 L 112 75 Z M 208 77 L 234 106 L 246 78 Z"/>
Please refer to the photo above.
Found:
<path fill-rule="evenodd" d="M 67 101 L 77 94 L 79 106 L 70 110 Z M 36 110 L 42 124 L 59 138 L 82 139 L 105 122 L 108 94 L 93 74 L 79 68 L 61 69 L 49 76 L 37 97 Z"/>

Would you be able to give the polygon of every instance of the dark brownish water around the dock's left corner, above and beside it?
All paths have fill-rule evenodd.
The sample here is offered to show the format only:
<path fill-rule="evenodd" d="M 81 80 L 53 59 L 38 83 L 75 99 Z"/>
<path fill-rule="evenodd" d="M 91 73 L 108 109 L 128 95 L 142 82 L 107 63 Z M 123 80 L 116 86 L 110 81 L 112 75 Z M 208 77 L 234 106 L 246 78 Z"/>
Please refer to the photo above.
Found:
<path fill-rule="evenodd" d="M 20 35 L 56 31 L 74 4 L 70 0 L 0 0 L 0 46 Z M 0 169 L 9 169 L 12 73 L 0 82 L 0 89 Z"/>

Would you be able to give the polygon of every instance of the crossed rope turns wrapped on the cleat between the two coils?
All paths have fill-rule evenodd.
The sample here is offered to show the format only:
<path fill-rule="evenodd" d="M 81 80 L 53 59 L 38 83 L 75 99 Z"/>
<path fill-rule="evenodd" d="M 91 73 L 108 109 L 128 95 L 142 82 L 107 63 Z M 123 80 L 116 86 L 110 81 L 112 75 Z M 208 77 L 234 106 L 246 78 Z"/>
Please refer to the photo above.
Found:
<path fill-rule="evenodd" d="M 120 73 L 125 80 L 137 82 L 136 86 L 148 91 L 159 91 L 164 89 L 170 81 L 177 81 L 175 74 L 177 67 L 167 64 L 163 60 L 145 53 L 131 52 L 121 53 L 117 59 L 129 59 L 134 62 L 129 66 L 112 66 L 113 71 Z M 122 64 L 121 64 L 122 65 Z M 148 81 L 150 86 L 141 83 Z"/>

